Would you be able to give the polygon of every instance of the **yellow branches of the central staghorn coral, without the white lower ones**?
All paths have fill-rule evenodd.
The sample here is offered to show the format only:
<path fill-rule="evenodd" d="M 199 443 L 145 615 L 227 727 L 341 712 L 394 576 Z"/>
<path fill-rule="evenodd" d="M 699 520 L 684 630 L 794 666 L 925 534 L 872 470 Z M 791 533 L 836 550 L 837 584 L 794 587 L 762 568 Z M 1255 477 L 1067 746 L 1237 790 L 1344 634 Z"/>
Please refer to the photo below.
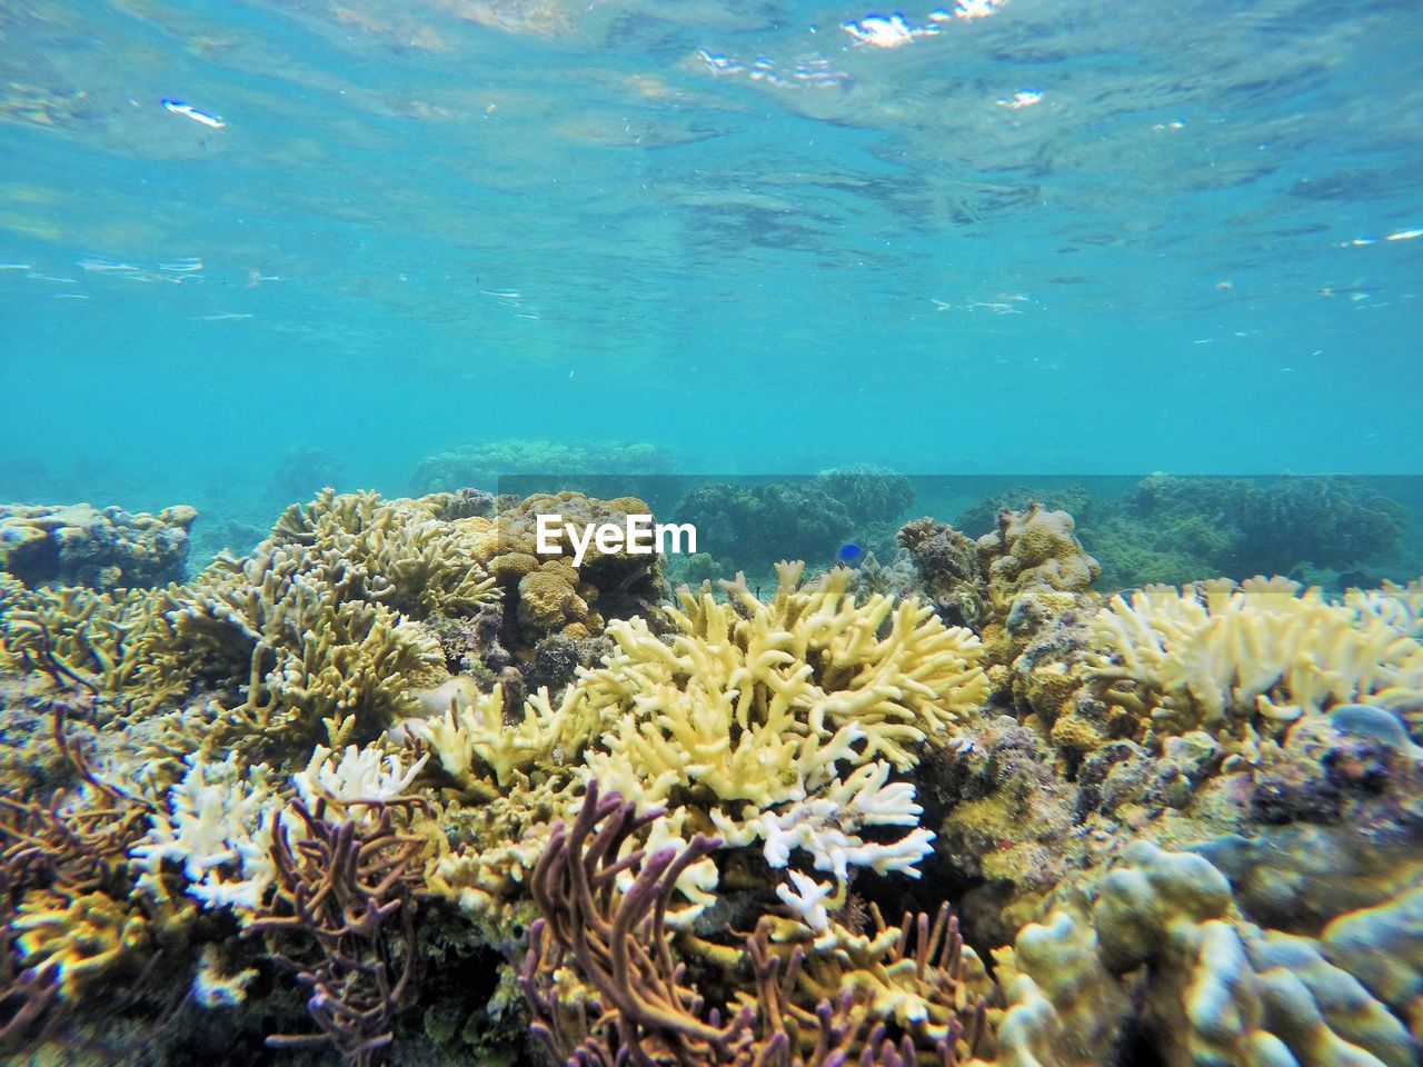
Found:
<path fill-rule="evenodd" d="M 978 639 L 914 602 L 857 606 L 844 570 L 801 588 L 801 569 L 781 565 L 768 605 L 741 582 L 727 583 L 734 605 L 683 588 L 670 644 L 642 619 L 612 623 L 606 664 L 581 671 L 556 708 L 531 700 L 517 726 L 495 689 L 464 706 L 451 694 L 416 731 L 465 784 L 477 764 L 504 785 L 558 751 L 645 804 L 702 784 L 768 808 L 828 782 L 841 760 L 912 767 L 912 745 L 948 740 L 986 696 Z"/>

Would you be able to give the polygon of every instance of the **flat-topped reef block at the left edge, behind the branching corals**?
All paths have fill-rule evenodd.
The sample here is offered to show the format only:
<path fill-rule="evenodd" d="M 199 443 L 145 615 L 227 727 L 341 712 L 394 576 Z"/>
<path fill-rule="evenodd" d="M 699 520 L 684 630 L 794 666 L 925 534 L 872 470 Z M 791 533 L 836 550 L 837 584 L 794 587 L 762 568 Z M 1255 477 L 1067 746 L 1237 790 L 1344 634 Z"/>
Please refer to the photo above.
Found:
<path fill-rule="evenodd" d="M 0 505 L 0 570 L 33 588 L 132 589 L 181 582 L 188 532 L 198 512 L 186 505 L 157 515 L 120 508 Z"/>

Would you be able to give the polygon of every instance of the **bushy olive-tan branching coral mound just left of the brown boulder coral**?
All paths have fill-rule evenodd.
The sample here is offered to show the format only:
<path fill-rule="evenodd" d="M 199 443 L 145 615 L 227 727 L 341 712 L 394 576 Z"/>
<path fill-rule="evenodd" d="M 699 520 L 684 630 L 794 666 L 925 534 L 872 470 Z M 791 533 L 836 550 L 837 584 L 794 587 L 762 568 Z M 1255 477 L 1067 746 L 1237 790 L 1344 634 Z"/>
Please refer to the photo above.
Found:
<path fill-rule="evenodd" d="M 445 679 L 421 619 L 495 598 L 471 535 L 437 518 L 440 501 L 336 497 L 290 508 L 252 556 L 219 558 L 164 592 L 139 643 L 139 681 L 169 696 L 236 687 L 205 711 L 169 720 L 168 747 L 340 747 L 416 707 L 411 691 Z"/>

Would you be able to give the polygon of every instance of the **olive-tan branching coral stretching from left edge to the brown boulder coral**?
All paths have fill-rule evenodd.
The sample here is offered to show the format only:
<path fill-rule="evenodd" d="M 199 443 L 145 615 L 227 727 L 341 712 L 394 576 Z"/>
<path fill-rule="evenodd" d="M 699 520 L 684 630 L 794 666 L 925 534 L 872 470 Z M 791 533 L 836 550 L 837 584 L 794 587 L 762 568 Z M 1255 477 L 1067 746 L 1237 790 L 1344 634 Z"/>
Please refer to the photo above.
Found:
<path fill-rule="evenodd" d="M 330 489 L 290 508 L 249 558 L 221 556 L 188 585 L 95 593 L 0 586 L 0 667 L 44 670 L 138 713 L 198 689 L 206 706 L 165 717 L 168 753 L 219 744 L 340 745 L 414 710 L 445 677 L 421 620 L 497 599 L 475 535 L 443 497 L 383 501 Z M 305 748 L 303 748 L 305 745 Z"/>

